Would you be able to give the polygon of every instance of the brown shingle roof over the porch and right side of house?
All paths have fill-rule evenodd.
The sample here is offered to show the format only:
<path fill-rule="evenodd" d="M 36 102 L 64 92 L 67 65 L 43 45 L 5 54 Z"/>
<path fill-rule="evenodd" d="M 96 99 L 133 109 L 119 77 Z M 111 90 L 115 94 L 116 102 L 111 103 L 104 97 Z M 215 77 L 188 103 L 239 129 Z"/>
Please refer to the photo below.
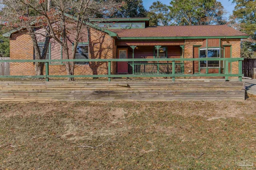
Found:
<path fill-rule="evenodd" d="M 119 37 L 220 37 L 248 36 L 228 25 L 152 26 L 144 29 L 109 29 Z"/>

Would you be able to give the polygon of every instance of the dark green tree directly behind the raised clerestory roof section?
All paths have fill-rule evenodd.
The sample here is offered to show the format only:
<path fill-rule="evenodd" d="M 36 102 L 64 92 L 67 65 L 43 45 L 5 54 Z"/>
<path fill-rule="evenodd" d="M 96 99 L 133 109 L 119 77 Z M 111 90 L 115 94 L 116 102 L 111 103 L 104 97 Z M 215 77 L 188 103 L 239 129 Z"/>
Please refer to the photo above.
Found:
<path fill-rule="evenodd" d="M 123 0 L 116 0 L 122 2 Z M 112 17 L 116 18 L 143 18 L 147 16 L 147 11 L 142 4 L 142 0 L 128 0 Z"/>

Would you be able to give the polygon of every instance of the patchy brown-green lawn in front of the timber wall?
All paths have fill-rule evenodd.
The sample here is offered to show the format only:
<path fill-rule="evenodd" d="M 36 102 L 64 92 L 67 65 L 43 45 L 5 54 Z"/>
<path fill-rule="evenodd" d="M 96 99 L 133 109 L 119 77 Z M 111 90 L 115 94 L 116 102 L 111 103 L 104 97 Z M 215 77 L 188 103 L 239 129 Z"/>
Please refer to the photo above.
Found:
<path fill-rule="evenodd" d="M 255 106 L 253 96 L 0 103 L 0 169 L 253 169 Z"/>

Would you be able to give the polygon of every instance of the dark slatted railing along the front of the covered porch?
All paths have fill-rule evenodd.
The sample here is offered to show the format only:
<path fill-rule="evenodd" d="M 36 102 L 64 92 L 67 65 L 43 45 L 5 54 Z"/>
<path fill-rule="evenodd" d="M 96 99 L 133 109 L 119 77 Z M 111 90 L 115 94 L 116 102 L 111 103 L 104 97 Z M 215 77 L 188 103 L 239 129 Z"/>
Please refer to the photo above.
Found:
<path fill-rule="evenodd" d="M 129 63 L 132 74 L 172 74 L 172 63 Z M 175 63 L 175 74 L 184 74 L 184 63 Z"/>

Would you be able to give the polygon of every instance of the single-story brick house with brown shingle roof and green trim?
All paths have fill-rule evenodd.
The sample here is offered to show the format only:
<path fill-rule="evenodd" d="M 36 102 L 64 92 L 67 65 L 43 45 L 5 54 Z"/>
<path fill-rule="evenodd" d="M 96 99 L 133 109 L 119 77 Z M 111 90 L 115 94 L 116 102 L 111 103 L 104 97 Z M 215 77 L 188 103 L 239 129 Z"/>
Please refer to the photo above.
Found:
<path fill-rule="evenodd" d="M 91 19 L 89 30 L 76 49 L 76 59 L 230 58 L 240 57 L 240 39 L 248 35 L 227 25 L 149 26 L 149 18 Z M 40 30 L 37 30 L 40 31 Z M 16 30 L 10 37 L 10 59 L 34 59 L 30 35 Z M 43 39 L 38 37 L 43 47 Z M 42 41 L 41 41 L 42 40 Z M 42 42 L 42 43 L 40 43 Z M 72 34 L 69 50 L 72 52 Z M 48 59 L 62 59 L 62 47 L 50 41 Z M 171 72 L 168 62 L 113 62 L 111 74 L 155 74 Z M 223 61 L 176 62 L 182 74 L 223 73 Z M 180 67 L 179 65 L 180 64 Z M 238 73 L 238 62 L 229 63 L 230 73 Z M 34 75 L 33 63 L 11 63 L 10 75 Z M 51 62 L 49 74 L 65 75 L 61 62 Z M 108 74 L 106 62 L 78 62 L 75 74 Z"/>

